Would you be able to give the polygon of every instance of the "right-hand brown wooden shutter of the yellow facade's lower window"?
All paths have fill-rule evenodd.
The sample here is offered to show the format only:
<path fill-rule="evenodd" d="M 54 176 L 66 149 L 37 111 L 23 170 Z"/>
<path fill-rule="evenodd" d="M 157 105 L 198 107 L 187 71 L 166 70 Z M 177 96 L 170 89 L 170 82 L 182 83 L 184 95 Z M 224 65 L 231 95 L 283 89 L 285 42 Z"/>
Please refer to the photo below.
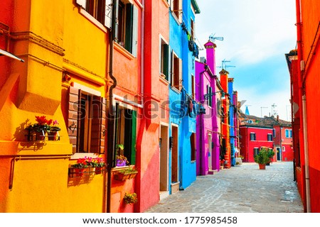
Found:
<path fill-rule="evenodd" d="M 91 153 L 105 153 L 106 101 L 100 96 L 92 98 Z"/>

